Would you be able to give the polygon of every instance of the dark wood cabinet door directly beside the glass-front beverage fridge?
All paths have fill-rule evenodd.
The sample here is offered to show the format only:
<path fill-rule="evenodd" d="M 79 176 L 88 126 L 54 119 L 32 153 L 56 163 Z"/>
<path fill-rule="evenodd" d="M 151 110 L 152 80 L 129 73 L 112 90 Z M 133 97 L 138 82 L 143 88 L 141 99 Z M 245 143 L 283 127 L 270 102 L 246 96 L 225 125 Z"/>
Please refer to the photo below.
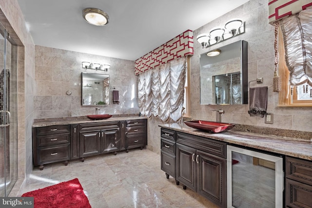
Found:
<path fill-rule="evenodd" d="M 197 192 L 226 207 L 226 159 L 198 150 L 196 154 Z"/>

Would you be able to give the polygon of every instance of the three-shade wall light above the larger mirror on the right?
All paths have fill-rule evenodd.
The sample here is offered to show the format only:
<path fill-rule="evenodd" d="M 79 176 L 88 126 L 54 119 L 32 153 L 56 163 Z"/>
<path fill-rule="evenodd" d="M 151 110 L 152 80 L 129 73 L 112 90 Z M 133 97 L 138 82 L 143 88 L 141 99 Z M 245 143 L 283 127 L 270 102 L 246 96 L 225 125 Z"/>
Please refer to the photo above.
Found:
<path fill-rule="evenodd" d="M 209 31 L 209 34 L 199 34 L 196 39 L 203 48 L 221 42 L 228 38 L 245 33 L 245 24 L 241 19 L 230 19 L 224 27 L 214 27 Z"/>

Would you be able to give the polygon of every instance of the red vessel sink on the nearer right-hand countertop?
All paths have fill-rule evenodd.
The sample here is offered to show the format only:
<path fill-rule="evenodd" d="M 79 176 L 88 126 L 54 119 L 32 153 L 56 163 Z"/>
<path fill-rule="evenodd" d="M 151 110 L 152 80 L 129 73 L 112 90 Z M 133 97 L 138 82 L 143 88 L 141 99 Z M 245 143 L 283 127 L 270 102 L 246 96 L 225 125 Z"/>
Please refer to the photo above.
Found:
<path fill-rule="evenodd" d="M 195 120 L 195 121 L 184 121 L 184 123 L 192 127 L 194 129 L 204 130 L 208 132 L 225 132 L 227 130 L 232 129 L 235 124 L 227 124 L 227 123 L 219 123 L 213 121 L 203 121 L 203 120 Z"/>

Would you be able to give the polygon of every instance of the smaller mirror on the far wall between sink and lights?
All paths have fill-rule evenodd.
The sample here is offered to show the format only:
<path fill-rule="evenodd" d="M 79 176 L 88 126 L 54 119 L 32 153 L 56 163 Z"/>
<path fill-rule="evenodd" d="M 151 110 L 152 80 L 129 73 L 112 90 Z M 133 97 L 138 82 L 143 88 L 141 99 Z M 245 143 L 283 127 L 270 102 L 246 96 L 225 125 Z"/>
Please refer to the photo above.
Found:
<path fill-rule="evenodd" d="M 109 75 L 81 73 L 82 105 L 109 105 Z"/>

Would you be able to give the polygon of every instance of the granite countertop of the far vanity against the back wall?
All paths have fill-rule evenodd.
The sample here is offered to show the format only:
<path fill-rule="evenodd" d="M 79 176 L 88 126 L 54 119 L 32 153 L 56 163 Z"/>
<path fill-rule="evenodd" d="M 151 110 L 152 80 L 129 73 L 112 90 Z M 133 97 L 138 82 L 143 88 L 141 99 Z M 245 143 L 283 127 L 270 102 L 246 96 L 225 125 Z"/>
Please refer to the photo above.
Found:
<path fill-rule="evenodd" d="M 133 114 L 125 115 L 113 115 L 107 119 L 101 120 L 91 120 L 86 116 L 78 117 L 62 117 L 62 118 L 42 118 L 35 119 L 32 127 L 45 127 L 53 125 L 67 125 L 67 124 L 81 124 L 81 123 L 98 123 L 98 122 L 109 122 L 109 121 L 122 121 L 122 120 L 137 120 L 137 119 L 147 119 L 146 117 L 140 117 Z"/>

